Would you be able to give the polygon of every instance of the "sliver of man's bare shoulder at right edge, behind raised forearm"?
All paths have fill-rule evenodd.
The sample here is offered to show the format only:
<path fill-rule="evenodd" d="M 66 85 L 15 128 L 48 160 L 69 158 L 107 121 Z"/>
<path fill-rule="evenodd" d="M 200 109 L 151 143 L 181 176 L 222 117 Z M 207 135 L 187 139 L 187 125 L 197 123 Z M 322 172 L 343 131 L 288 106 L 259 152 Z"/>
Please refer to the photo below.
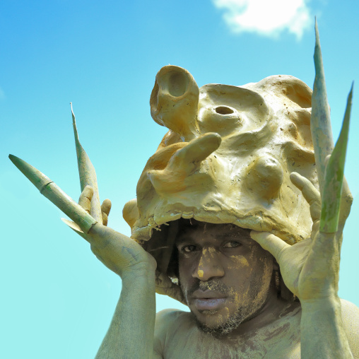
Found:
<path fill-rule="evenodd" d="M 354 358 L 359 358 L 359 308 L 341 299 L 341 319 Z"/>

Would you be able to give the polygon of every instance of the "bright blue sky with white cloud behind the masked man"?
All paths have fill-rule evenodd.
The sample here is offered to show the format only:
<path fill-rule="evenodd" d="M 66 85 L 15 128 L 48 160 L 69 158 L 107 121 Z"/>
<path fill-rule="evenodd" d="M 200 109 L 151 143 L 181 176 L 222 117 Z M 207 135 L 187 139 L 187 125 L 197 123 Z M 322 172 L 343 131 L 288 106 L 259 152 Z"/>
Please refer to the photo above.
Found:
<path fill-rule="evenodd" d="M 129 235 L 122 207 L 136 196 L 143 166 L 165 134 L 148 104 L 158 70 L 182 66 L 199 86 L 289 74 L 312 87 L 314 15 L 336 139 L 351 81 L 359 79 L 358 4 L 303 1 L 1 2 L 1 358 L 93 358 L 121 289 L 8 153 L 77 199 L 72 101 L 100 197 L 112 200 L 110 225 Z M 359 305 L 356 89 L 353 102 L 346 177 L 355 200 L 339 293 Z M 158 296 L 158 310 L 165 307 L 180 306 Z"/>

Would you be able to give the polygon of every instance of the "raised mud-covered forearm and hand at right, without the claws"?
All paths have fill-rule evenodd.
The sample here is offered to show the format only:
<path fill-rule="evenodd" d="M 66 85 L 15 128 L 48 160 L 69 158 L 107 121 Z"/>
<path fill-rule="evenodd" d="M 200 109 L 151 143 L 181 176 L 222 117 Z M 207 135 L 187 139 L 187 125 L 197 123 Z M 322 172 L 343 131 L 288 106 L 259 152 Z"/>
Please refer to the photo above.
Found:
<path fill-rule="evenodd" d="M 351 349 L 357 348 L 349 346 L 338 297 L 341 230 L 339 233 L 319 232 L 319 192 L 308 179 L 297 173 L 290 179 L 310 203 L 312 237 L 290 246 L 270 233 L 252 231 L 251 236 L 273 254 L 284 283 L 300 300 L 302 358 L 353 358 Z"/>

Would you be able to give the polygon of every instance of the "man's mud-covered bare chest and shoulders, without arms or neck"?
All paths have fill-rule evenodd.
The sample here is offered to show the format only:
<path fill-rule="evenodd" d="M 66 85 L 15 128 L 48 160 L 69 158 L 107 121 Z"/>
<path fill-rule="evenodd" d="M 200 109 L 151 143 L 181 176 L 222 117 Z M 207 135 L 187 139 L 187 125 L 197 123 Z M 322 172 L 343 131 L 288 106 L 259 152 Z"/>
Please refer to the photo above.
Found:
<path fill-rule="evenodd" d="M 273 317 L 277 314 L 275 318 L 269 317 L 271 322 L 265 326 L 253 326 L 250 321 L 242 324 L 242 334 L 227 341 L 201 332 L 191 313 L 179 310 L 158 312 L 155 358 L 300 359 L 300 304 L 285 301 L 278 304 L 280 310 L 273 312 Z M 358 307 L 341 300 L 341 317 L 353 358 L 359 358 Z"/>

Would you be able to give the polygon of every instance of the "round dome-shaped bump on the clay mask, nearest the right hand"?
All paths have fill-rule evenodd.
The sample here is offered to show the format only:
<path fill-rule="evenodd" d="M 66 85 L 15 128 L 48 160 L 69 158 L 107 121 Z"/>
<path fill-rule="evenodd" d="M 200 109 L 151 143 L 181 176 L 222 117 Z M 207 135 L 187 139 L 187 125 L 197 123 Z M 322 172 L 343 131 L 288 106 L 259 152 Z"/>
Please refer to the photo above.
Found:
<path fill-rule="evenodd" d="M 269 200 L 278 196 L 283 183 L 283 169 L 278 160 L 271 155 L 258 158 L 249 170 L 248 189 L 261 198 Z"/>

